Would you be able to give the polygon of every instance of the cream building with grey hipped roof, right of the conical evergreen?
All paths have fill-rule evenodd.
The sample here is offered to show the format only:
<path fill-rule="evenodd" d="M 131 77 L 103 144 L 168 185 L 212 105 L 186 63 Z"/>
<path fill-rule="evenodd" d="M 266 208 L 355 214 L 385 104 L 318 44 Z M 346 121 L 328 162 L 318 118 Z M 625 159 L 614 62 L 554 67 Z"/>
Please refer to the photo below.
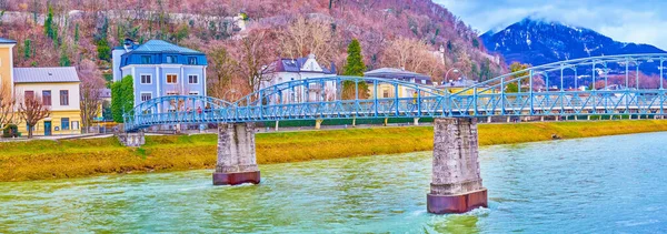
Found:
<path fill-rule="evenodd" d="M 364 77 L 367 78 L 381 78 L 388 80 L 398 80 L 402 82 L 417 83 L 421 85 L 431 85 L 431 78 L 426 74 L 420 74 L 417 72 L 406 71 L 402 69 L 394 69 L 394 68 L 381 68 L 372 71 L 367 71 L 364 73 Z M 371 96 L 375 96 L 375 89 L 370 88 L 369 93 Z M 379 83 L 378 84 L 378 98 L 388 99 L 388 98 L 414 98 L 416 90 L 410 87 L 398 87 L 398 93 L 394 84 L 389 83 Z M 427 93 L 421 93 L 421 95 L 428 95 Z"/>

